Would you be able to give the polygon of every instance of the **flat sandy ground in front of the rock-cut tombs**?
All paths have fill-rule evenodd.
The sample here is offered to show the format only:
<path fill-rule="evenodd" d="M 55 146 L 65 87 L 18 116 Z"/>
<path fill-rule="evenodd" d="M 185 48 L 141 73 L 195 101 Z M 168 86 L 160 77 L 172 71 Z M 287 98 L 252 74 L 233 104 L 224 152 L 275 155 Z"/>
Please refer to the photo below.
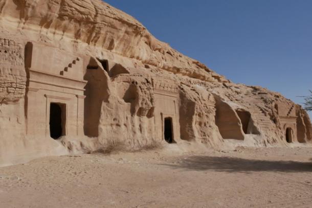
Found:
<path fill-rule="evenodd" d="M 312 207 L 311 158 L 312 148 L 46 157 L 0 168 L 0 207 Z"/>

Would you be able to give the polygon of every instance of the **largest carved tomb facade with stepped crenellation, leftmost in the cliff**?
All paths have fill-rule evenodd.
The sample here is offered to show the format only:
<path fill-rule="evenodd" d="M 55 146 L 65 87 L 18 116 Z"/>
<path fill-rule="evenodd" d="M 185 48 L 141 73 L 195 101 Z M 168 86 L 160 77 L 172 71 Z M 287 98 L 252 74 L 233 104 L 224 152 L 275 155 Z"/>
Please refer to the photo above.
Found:
<path fill-rule="evenodd" d="M 82 136 L 84 116 L 83 60 L 49 45 L 26 45 L 27 134 L 49 137 L 55 105 L 60 112 L 62 132 L 58 136 Z M 53 108 L 54 107 L 54 108 Z M 57 138 L 57 137 L 54 137 Z"/>

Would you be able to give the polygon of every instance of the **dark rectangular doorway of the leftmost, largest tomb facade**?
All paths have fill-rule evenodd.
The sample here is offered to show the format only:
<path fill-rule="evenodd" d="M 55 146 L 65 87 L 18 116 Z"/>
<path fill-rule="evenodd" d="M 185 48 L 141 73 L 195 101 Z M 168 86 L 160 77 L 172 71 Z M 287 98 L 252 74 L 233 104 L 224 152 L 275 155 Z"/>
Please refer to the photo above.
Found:
<path fill-rule="evenodd" d="M 65 105 L 50 104 L 50 136 L 56 140 L 65 134 Z"/>

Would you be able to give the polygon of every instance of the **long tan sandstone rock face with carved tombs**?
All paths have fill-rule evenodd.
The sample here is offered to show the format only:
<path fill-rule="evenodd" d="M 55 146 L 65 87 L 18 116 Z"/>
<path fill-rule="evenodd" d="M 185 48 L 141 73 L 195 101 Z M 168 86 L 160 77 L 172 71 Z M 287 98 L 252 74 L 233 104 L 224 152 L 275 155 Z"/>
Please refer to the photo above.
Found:
<path fill-rule="evenodd" d="M 1 164 L 96 144 L 311 142 L 301 106 L 232 83 L 100 0 L 2 0 L 0 11 Z"/>

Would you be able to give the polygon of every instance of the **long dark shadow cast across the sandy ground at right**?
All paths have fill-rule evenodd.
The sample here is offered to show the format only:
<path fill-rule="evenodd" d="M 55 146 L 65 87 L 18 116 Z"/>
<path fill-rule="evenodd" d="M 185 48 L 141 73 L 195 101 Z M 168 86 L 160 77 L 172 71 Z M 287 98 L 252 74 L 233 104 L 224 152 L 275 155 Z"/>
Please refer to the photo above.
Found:
<path fill-rule="evenodd" d="M 220 172 L 312 172 L 311 162 L 269 161 L 237 157 L 191 156 L 163 164 L 174 169 Z"/>

